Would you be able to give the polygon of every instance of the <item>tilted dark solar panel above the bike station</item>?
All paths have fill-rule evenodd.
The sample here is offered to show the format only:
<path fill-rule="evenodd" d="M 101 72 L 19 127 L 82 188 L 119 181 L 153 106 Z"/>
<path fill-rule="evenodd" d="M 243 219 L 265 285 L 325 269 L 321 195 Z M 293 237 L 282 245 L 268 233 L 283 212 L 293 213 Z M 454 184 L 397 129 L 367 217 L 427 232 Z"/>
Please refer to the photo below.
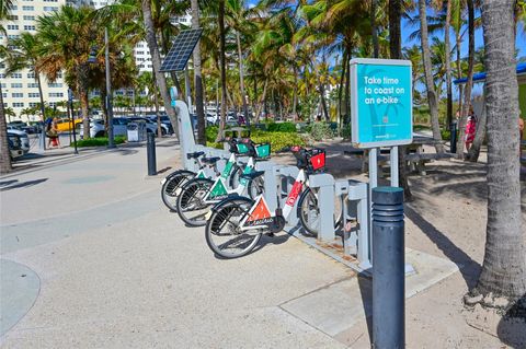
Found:
<path fill-rule="evenodd" d="M 182 31 L 173 40 L 172 48 L 161 65 L 161 71 L 182 71 L 199 42 L 203 30 Z"/>

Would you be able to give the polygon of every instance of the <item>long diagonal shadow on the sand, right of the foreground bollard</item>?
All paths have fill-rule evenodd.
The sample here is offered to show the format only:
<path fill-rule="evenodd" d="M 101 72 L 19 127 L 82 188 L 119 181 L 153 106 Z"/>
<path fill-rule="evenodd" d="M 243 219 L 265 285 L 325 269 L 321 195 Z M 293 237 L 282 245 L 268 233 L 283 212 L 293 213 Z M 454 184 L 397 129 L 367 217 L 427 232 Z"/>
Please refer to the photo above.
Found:
<path fill-rule="evenodd" d="M 409 218 L 435 245 L 455 263 L 462 275 L 469 289 L 476 286 L 481 266 L 474 261 L 462 249 L 458 248 L 443 232 L 438 231 L 432 223 L 426 221 L 409 205 L 404 206 L 405 217 Z"/>

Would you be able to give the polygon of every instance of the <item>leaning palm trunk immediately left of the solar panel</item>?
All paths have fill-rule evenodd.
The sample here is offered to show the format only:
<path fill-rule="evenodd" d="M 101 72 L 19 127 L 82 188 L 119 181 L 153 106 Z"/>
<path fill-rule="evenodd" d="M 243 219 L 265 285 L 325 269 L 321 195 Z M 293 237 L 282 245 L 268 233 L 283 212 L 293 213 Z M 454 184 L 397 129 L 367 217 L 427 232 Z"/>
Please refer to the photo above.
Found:
<path fill-rule="evenodd" d="M 161 57 L 159 55 L 159 46 L 157 45 L 156 30 L 153 27 L 153 21 L 151 19 L 151 1 L 142 0 L 142 18 L 145 21 L 146 27 L 146 42 L 148 43 L 148 48 L 151 55 L 151 62 L 153 66 L 153 71 L 156 72 L 156 81 L 161 93 L 162 101 L 164 103 L 164 109 L 167 110 L 170 121 L 172 123 L 173 130 L 175 131 L 175 137 L 179 140 L 179 123 L 175 110 L 171 106 L 170 93 L 168 92 L 167 79 L 164 74 L 160 72 L 161 70 Z M 181 91 L 179 91 L 181 92 Z"/>

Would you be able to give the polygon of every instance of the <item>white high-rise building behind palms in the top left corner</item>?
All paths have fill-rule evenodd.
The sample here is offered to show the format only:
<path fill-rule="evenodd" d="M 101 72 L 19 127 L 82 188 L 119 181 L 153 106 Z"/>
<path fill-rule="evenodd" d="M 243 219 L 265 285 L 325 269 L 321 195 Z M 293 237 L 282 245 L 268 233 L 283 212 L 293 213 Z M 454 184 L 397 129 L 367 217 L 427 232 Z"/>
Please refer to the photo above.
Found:
<path fill-rule="evenodd" d="M 0 33 L 0 43 L 8 44 L 8 38 L 15 38 L 22 32 L 36 33 L 36 19 L 39 15 L 58 11 L 66 0 L 22 0 L 16 1 L 9 21 L 3 23 L 7 30 L 7 36 Z M 68 86 L 61 79 L 49 82 L 44 75 L 41 77 L 42 92 L 47 105 L 54 107 L 57 102 L 68 98 Z M 0 83 L 2 84 L 3 103 L 16 114 L 12 119 L 22 119 L 24 121 L 39 120 L 39 116 L 27 117 L 22 115 L 25 108 L 35 107 L 41 102 L 38 85 L 35 77 L 30 70 L 24 69 L 5 75 L 5 66 L 0 63 Z M 39 114 L 39 113 L 38 113 Z M 9 116 L 8 116 L 9 117 Z"/>

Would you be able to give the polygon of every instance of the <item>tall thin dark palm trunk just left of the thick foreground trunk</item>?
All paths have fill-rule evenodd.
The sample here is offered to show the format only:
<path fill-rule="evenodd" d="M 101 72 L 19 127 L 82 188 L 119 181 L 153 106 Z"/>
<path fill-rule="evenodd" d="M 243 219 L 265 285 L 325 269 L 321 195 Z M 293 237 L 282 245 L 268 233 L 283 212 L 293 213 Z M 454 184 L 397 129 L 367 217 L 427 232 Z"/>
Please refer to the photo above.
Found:
<path fill-rule="evenodd" d="M 471 88 L 473 86 L 474 66 L 474 9 L 473 0 L 468 0 L 468 27 L 469 27 L 469 54 L 468 54 L 468 82 L 464 91 L 464 106 L 458 123 L 457 158 L 464 159 L 464 136 L 466 135 L 466 123 L 471 106 Z M 518 121 L 517 121 L 518 123 Z"/>

